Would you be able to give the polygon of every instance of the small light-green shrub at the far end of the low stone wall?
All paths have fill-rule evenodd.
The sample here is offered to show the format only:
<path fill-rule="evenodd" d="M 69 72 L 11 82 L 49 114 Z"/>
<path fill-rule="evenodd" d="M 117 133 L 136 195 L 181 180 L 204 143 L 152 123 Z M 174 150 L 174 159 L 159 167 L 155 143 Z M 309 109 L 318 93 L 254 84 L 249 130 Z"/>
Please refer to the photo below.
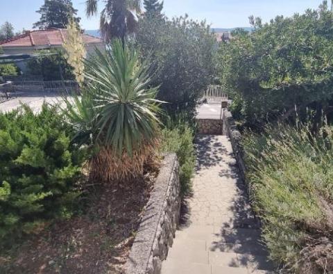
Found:
<path fill-rule="evenodd" d="M 162 129 L 162 152 L 175 152 L 178 156 L 182 195 L 191 193 L 191 178 L 196 163 L 193 140 L 193 130 L 187 124 Z"/>

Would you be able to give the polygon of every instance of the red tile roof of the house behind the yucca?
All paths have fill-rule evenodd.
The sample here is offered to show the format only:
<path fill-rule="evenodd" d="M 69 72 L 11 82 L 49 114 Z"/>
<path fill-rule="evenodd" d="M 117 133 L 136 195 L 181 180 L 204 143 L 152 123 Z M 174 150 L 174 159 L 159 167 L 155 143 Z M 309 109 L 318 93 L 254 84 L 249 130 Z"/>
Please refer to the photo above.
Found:
<path fill-rule="evenodd" d="M 92 35 L 82 34 L 83 42 L 103 43 L 101 38 Z M 47 29 L 40 31 L 27 31 L 26 33 L 16 36 L 10 40 L 0 42 L 1 47 L 33 47 L 33 46 L 56 46 L 62 45 L 67 38 L 66 29 Z"/>

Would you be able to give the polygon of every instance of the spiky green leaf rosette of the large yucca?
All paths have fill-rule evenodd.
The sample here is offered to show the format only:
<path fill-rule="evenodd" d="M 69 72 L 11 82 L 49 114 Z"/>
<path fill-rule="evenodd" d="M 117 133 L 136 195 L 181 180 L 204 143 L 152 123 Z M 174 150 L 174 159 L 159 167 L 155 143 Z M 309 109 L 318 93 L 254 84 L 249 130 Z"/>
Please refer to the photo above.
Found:
<path fill-rule="evenodd" d="M 114 40 L 105 53 L 86 62 L 90 94 L 96 111 L 96 141 L 130 156 L 156 138 L 160 102 L 151 88 L 150 66 L 135 49 Z"/>

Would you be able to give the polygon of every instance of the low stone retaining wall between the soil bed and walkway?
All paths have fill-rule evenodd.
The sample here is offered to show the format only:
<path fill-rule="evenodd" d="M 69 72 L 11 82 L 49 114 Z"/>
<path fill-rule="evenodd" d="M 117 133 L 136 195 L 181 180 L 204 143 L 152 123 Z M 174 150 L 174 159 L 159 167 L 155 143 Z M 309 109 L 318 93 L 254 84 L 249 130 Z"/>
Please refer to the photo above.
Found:
<path fill-rule="evenodd" d="M 164 156 L 151 198 L 125 266 L 126 274 L 159 274 L 167 259 L 180 217 L 179 165 L 176 154 Z"/>

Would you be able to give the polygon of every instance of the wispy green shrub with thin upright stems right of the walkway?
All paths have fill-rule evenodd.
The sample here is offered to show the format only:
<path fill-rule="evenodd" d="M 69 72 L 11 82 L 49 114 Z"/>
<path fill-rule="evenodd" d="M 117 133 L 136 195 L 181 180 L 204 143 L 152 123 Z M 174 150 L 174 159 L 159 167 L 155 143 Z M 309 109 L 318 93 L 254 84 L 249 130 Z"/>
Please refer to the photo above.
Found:
<path fill-rule="evenodd" d="M 293 273 L 333 271 L 332 130 L 312 136 L 305 126 L 280 126 L 243 140 L 264 240 Z"/>

